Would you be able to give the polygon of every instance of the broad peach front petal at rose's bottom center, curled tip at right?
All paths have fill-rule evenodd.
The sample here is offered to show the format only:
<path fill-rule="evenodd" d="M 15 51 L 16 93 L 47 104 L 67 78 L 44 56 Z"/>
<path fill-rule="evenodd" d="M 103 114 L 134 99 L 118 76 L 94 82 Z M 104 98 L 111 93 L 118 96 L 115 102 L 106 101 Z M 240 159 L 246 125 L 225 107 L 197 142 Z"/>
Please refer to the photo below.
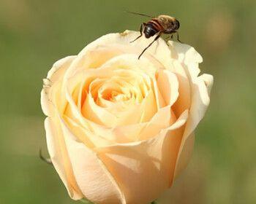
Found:
<path fill-rule="evenodd" d="M 173 128 L 162 130 L 154 138 L 97 149 L 127 203 L 150 203 L 170 187 L 182 136 L 179 131 L 186 121 L 187 112 Z"/>

